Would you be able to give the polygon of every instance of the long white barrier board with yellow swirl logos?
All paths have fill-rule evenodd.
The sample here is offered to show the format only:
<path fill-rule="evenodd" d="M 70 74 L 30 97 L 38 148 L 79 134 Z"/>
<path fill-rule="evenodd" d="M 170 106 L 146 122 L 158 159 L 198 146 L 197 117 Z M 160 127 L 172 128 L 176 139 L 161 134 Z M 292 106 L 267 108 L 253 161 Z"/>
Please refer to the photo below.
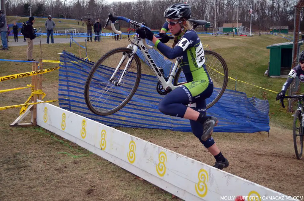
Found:
<path fill-rule="evenodd" d="M 184 200 L 295 200 L 48 103 L 37 104 L 37 125 Z"/>

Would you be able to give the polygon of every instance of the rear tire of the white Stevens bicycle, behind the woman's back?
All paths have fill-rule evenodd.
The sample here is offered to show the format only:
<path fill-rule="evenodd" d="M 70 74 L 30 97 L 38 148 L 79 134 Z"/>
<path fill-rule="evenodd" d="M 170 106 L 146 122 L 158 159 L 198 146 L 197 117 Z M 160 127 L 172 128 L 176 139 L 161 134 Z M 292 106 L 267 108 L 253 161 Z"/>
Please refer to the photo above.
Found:
<path fill-rule="evenodd" d="M 206 109 L 212 107 L 214 104 L 216 104 L 216 102 L 220 99 L 220 97 L 222 97 L 224 91 L 226 90 L 227 83 L 228 83 L 228 67 L 227 67 L 227 64 L 226 64 L 225 60 L 223 59 L 223 57 L 220 56 L 216 52 L 205 50 L 205 58 L 208 55 L 212 55 L 212 56 L 216 57 L 222 64 L 223 69 L 224 69 L 224 82 L 223 82 L 223 86 L 222 86 L 222 89 L 220 90 L 219 94 L 216 96 L 216 98 L 214 100 L 212 100 L 210 103 L 208 103 L 206 105 Z M 178 86 L 178 79 L 180 77 L 181 72 L 182 72 L 181 68 L 178 68 L 178 71 L 177 71 L 177 73 L 174 77 L 174 81 L 173 81 L 174 86 Z"/>

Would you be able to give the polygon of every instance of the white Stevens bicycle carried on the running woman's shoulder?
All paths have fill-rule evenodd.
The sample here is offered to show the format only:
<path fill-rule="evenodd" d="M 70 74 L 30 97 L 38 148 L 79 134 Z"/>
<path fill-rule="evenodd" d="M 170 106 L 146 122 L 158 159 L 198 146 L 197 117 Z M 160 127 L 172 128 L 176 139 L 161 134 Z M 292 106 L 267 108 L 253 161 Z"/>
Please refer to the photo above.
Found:
<path fill-rule="evenodd" d="M 103 116 L 119 111 L 130 101 L 136 92 L 141 76 L 141 63 L 139 57 L 136 55 L 138 50 L 142 52 L 151 70 L 158 79 L 156 89 L 159 94 L 166 95 L 179 85 L 186 83 L 181 68 L 178 68 L 178 61 L 175 62 L 169 76 L 165 77 L 163 68 L 157 66 L 149 55 L 148 49 L 152 49 L 153 47 L 147 45 L 146 40 L 138 37 L 136 33 L 133 41 L 130 40 L 131 26 L 133 25 L 134 29 L 146 27 L 144 23 L 109 14 L 104 28 L 108 25 L 109 20 L 111 20 L 112 30 L 116 34 L 121 35 L 121 32 L 115 29 L 113 23 L 117 19 L 131 24 L 128 34 L 128 40 L 131 44 L 128 45 L 127 48 L 121 47 L 113 49 L 102 56 L 92 67 L 85 83 L 84 95 L 88 108 L 93 113 Z M 191 20 L 191 23 L 193 27 L 196 27 L 206 24 L 206 21 Z M 172 36 L 170 37 L 171 39 L 173 38 Z M 207 103 L 208 109 L 219 100 L 226 89 L 228 68 L 225 60 L 218 53 L 212 51 L 206 50 L 200 59 L 205 59 L 206 67 L 208 67 L 207 71 L 213 80 L 214 91 L 216 92 L 214 96 L 212 94 L 212 97 L 210 97 L 212 101 Z M 111 101 L 108 101 L 110 96 Z"/>

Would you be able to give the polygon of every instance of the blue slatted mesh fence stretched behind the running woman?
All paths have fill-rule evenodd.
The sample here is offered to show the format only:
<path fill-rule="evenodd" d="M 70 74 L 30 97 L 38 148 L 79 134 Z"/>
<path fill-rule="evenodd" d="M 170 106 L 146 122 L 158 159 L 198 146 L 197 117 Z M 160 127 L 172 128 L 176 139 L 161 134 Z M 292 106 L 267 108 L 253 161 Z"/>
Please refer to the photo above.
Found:
<path fill-rule="evenodd" d="M 120 111 L 108 116 L 93 114 L 85 104 L 84 87 L 94 63 L 66 51 L 62 53 L 58 89 L 61 108 L 108 126 L 191 131 L 189 120 L 171 117 L 158 110 L 158 103 L 164 96 L 157 93 L 157 79 L 151 75 L 141 75 L 135 95 Z M 170 66 L 162 67 L 170 69 Z M 114 69 L 105 66 L 100 69 L 100 76 L 113 71 Z M 220 100 L 207 110 L 208 115 L 219 118 L 215 132 L 242 133 L 269 131 L 268 112 L 268 100 L 248 98 L 245 93 L 233 90 L 226 90 Z"/>

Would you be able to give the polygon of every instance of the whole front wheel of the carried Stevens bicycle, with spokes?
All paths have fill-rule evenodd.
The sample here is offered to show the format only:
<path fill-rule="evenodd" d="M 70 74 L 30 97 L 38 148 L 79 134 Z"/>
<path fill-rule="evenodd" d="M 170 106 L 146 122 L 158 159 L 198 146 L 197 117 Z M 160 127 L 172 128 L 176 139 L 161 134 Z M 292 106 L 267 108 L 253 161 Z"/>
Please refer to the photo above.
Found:
<path fill-rule="evenodd" d="M 125 68 L 127 70 L 123 74 Z M 140 75 L 140 60 L 131 49 L 117 48 L 106 53 L 94 64 L 85 83 L 88 108 L 103 116 L 119 111 L 136 92 Z M 117 84 L 121 76 L 123 79 Z"/>

